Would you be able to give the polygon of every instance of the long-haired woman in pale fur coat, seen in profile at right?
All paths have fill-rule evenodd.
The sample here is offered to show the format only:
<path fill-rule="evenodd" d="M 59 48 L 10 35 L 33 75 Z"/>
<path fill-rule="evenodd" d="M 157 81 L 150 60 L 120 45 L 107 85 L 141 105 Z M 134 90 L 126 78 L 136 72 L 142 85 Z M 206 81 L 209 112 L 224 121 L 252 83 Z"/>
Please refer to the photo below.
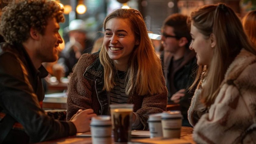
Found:
<path fill-rule="evenodd" d="M 224 4 L 191 13 L 198 87 L 188 110 L 197 143 L 256 143 L 256 51 Z"/>

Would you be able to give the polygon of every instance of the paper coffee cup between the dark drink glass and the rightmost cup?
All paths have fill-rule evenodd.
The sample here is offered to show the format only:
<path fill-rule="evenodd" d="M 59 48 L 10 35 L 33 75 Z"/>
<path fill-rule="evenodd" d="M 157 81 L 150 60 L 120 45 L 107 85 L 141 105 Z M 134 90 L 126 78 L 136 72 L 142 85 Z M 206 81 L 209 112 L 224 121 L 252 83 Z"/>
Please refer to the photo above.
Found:
<path fill-rule="evenodd" d="M 161 116 L 162 116 L 162 113 L 149 115 L 148 123 L 149 123 L 150 138 L 163 136 Z"/>

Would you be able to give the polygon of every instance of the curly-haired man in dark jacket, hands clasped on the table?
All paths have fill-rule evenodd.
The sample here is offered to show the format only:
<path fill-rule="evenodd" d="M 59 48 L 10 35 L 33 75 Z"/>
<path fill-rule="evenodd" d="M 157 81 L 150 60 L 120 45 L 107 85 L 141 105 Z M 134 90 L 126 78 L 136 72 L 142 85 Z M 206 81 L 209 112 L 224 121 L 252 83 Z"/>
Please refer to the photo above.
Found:
<path fill-rule="evenodd" d="M 96 116 L 84 110 L 71 121 L 59 121 L 42 109 L 44 90 L 41 78 L 47 76 L 42 62 L 58 59 L 62 43 L 59 22 L 63 9 L 47 0 L 23 0 L 5 7 L 0 33 L 0 143 L 28 143 L 57 139 L 89 131 Z"/>

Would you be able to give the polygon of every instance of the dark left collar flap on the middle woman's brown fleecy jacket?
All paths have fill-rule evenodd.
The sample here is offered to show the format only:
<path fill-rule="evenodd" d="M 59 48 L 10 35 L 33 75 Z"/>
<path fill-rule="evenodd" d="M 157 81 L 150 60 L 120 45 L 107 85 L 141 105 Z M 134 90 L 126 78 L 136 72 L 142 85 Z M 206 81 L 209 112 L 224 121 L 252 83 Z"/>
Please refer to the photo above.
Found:
<path fill-rule="evenodd" d="M 96 60 L 86 68 L 83 76 L 96 81 L 98 78 L 103 78 L 104 68 L 100 63 L 99 53 L 95 53 L 97 55 Z"/>

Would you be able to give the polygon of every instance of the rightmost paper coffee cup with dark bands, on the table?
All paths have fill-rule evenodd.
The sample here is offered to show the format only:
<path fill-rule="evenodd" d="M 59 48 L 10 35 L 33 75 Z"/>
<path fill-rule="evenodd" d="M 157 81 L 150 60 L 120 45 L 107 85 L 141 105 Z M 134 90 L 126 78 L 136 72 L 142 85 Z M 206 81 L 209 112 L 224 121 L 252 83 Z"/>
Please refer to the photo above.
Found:
<path fill-rule="evenodd" d="M 162 130 L 164 138 L 180 138 L 182 115 L 181 111 L 162 113 Z"/>

